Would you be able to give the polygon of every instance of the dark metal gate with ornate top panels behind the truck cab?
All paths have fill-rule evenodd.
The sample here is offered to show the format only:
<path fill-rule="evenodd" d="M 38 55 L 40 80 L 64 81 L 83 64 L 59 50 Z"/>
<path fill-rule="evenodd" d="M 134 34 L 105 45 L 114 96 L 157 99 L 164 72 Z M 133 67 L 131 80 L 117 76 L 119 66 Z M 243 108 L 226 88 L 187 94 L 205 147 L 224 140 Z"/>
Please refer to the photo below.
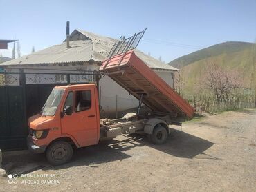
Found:
<path fill-rule="evenodd" d="M 98 84 L 97 71 L 77 73 L 0 72 L 0 148 L 26 148 L 28 118 L 39 113 L 56 85 Z"/>

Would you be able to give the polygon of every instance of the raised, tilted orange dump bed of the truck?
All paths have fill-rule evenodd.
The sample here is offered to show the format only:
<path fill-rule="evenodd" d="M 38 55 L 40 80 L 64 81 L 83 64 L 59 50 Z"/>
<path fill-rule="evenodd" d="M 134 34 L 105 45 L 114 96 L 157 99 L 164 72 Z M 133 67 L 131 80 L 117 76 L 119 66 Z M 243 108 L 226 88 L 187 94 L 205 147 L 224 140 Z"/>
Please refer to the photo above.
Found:
<path fill-rule="evenodd" d="M 103 61 L 100 71 L 116 81 L 152 111 L 192 117 L 194 108 L 149 68 L 134 50 Z M 143 96 L 142 96 L 143 95 Z"/>

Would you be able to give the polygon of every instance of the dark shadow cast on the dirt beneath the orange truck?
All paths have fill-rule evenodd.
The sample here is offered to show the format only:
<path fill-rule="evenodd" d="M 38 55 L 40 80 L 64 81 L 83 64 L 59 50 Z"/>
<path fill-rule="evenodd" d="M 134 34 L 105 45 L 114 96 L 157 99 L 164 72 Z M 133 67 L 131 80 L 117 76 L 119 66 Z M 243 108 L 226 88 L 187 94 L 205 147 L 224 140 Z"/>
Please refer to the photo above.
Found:
<path fill-rule="evenodd" d="M 123 140 L 108 140 L 100 142 L 95 146 L 79 148 L 74 151 L 71 162 L 62 166 L 51 166 L 46 161 L 44 154 L 33 154 L 28 151 L 3 153 L 3 168 L 5 168 L 5 165 L 8 166 L 9 164 L 10 166 L 11 164 L 12 167 L 9 169 L 6 168 L 6 171 L 8 173 L 15 173 L 15 170 L 17 171 L 17 168 L 19 170 L 19 166 L 22 166 L 24 171 L 20 171 L 20 174 L 24 174 L 37 169 L 55 170 L 84 165 L 97 167 L 97 164 L 116 160 L 125 160 L 131 157 L 130 155 L 127 155 L 125 151 L 134 147 L 139 148 L 141 146 L 149 146 L 175 157 L 194 158 L 196 155 L 204 154 L 203 151 L 213 145 L 213 143 L 208 140 L 203 140 L 202 138 L 176 129 L 172 129 L 167 142 L 161 145 L 152 144 L 144 135 L 131 136 L 132 137 L 123 137 Z M 212 159 L 214 159 L 214 157 L 212 157 Z M 34 166 L 29 169 L 31 164 Z"/>

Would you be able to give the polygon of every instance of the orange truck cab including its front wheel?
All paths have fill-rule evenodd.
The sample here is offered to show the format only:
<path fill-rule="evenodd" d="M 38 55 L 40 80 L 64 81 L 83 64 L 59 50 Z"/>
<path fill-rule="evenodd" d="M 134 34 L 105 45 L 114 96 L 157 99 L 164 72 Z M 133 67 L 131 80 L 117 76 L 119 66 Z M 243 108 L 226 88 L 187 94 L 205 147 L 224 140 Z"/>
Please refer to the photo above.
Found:
<path fill-rule="evenodd" d="M 73 148 L 98 144 L 100 111 L 95 84 L 56 86 L 38 115 L 28 119 L 28 148 L 51 164 L 71 159 Z"/>

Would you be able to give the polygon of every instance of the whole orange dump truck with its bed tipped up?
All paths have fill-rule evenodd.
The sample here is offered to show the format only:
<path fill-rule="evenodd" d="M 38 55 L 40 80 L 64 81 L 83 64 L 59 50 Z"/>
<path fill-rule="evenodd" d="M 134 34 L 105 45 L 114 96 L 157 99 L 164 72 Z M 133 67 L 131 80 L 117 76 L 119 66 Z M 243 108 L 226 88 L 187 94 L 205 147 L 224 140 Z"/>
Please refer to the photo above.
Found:
<path fill-rule="evenodd" d="M 73 148 L 98 144 L 121 134 L 142 133 L 155 144 L 167 140 L 176 115 L 192 117 L 194 108 L 165 81 L 128 50 L 103 62 L 100 72 L 108 75 L 139 99 L 138 112 L 121 119 L 100 119 L 95 84 L 56 86 L 42 113 L 28 119 L 28 148 L 46 153 L 51 164 L 71 160 Z M 142 104 L 151 111 L 140 114 Z"/>

